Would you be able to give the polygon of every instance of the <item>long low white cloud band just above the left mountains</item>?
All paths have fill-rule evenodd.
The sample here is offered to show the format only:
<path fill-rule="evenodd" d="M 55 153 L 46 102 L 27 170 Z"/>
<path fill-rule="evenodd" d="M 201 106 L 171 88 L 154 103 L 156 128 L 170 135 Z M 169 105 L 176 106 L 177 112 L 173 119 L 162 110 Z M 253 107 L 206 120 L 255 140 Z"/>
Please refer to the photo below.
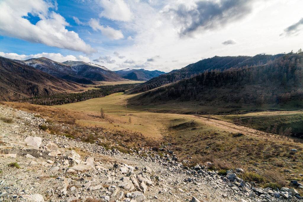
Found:
<path fill-rule="evenodd" d="M 45 57 L 48 59 L 51 59 L 53 61 L 57 62 L 64 62 L 67 60 L 72 61 L 84 61 L 84 62 L 90 62 L 90 59 L 88 57 L 78 55 L 66 55 L 63 56 L 61 53 L 38 53 L 38 54 L 31 54 L 31 55 L 18 55 L 17 53 L 4 53 L 0 52 L 0 55 L 5 58 L 15 59 L 15 60 L 28 60 L 30 58 L 41 58 Z"/>

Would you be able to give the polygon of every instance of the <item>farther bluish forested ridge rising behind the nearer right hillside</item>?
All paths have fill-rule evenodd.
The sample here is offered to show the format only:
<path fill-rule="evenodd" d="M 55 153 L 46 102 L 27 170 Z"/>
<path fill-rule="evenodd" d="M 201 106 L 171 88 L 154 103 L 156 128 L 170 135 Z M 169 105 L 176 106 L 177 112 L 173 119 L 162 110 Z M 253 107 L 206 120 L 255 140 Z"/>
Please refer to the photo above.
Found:
<path fill-rule="evenodd" d="M 156 78 L 153 78 L 144 84 L 139 85 L 138 87 L 132 90 L 133 93 L 144 92 L 169 84 L 175 81 L 180 81 L 185 78 L 190 78 L 195 75 L 201 74 L 205 71 L 224 71 L 230 68 L 247 68 L 255 65 L 266 64 L 270 60 L 281 57 L 284 54 L 278 55 L 256 55 L 254 57 L 250 56 L 225 56 L 219 57 L 215 56 L 212 58 L 207 58 L 196 63 L 190 64 L 182 69 L 173 70 L 167 74 L 160 75 Z"/>

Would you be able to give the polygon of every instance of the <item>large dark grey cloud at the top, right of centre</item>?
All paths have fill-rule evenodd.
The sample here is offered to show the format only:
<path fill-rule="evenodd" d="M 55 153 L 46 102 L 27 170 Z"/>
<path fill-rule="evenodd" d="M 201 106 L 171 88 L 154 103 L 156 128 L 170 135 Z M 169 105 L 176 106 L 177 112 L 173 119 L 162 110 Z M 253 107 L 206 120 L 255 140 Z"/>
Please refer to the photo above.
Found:
<path fill-rule="evenodd" d="M 180 36 L 197 31 L 217 29 L 244 18 L 252 11 L 255 0 L 200 0 L 192 5 L 179 4 L 170 8 L 172 18 L 179 24 Z"/>

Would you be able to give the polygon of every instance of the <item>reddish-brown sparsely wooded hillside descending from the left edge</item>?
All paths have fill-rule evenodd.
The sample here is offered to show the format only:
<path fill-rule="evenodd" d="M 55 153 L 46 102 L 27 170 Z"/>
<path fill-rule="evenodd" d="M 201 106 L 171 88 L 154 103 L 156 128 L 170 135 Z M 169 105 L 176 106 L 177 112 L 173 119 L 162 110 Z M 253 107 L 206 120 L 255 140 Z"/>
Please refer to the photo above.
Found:
<path fill-rule="evenodd" d="M 76 83 L 3 57 L 0 57 L 0 78 L 0 99 L 5 101 L 80 88 Z"/>

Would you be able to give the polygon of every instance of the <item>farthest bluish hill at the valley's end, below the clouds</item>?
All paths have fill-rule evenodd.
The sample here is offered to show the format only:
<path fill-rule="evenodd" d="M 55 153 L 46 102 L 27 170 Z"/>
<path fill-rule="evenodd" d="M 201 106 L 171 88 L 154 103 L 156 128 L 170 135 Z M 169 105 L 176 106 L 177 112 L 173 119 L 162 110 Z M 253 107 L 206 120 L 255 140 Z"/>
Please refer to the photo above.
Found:
<path fill-rule="evenodd" d="M 165 74 L 163 71 L 149 71 L 145 69 L 122 69 L 115 71 L 117 74 L 121 75 L 123 78 L 136 80 L 136 81 L 148 81 L 154 77 Z"/>

